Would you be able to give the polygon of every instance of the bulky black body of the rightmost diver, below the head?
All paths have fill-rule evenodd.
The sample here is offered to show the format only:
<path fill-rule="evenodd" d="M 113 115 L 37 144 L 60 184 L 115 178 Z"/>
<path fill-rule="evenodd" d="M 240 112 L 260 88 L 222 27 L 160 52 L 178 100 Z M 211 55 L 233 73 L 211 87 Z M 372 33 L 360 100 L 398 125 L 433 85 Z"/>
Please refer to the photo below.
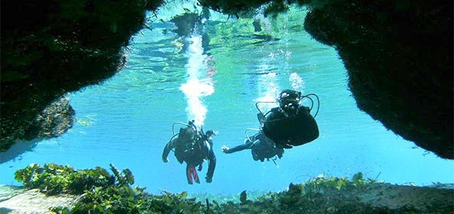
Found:
<path fill-rule="evenodd" d="M 294 117 L 287 117 L 279 108 L 272 108 L 265 115 L 262 129 L 279 147 L 303 145 L 319 137 L 319 127 L 306 106 L 299 106 Z"/>

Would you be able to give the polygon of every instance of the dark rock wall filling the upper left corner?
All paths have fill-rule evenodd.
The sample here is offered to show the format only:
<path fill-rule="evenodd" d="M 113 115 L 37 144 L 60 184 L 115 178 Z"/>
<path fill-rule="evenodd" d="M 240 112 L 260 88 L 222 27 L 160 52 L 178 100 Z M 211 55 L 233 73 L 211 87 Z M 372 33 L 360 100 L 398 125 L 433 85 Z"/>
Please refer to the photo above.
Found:
<path fill-rule="evenodd" d="M 116 74 L 131 36 L 145 27 L 146 11 L 160 4 L 1 1 L 1 151 L 18 140 L 65 133 L 74 111 L 62 96 Z M 46 110 L 56 106 L 66 112 Z"/>

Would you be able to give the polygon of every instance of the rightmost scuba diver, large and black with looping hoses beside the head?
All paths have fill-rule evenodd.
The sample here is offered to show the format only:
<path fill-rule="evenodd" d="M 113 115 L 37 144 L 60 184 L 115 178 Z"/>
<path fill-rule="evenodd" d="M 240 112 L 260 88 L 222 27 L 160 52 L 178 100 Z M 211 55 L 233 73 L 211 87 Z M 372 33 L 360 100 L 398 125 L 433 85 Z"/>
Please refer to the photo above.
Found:
<path fill-rule="evenodd" d="M 314 116 L 311 110 L 314 108 L 314 100 L 311 96 L 317 98 L 317 111 Z M 308 98 L 311 101 L 311 108 L 303 106 L 301 100 Z M 293 146 L 304 145 L 316 140 L 319 137 L 319 127 L 315 117 L 319 113 L 319 97 L 316 94 L 301 96 L 301 91 L 284 90 L 281 91 L 277 98 L 279 107 L 272 108 L 266 114 L 260 113 L 258 119 L 262 125 L 263 133 L 274 141 L 277 147 L 286 149 Z"/>

